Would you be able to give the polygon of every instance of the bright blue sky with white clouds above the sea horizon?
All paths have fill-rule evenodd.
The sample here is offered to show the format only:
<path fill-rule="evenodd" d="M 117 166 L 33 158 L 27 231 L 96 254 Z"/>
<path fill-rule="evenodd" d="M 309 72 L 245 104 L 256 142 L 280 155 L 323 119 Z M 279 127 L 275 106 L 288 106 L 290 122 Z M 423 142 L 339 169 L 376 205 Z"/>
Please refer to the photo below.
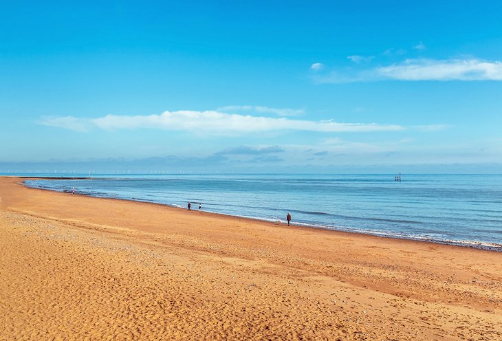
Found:
<path fill-rule="evenodd" d="M 500 1 L 0 2 L 2 173 L 502 173 Z"/>

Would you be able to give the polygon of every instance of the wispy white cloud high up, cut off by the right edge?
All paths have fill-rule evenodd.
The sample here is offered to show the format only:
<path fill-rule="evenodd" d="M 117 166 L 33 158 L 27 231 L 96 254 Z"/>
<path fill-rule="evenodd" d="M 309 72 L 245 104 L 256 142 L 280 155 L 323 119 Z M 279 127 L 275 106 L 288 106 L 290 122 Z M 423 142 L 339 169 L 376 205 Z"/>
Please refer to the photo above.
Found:
<path fill-rule="evenodd" d="M 375 82 L 379 80 L 502 80 L 501 61 L 482 61 L 477 58 L 434 60 L 407 59 L 402 63 L 371 69 L 351 69 L 316 75 L 317 83 Z"/>

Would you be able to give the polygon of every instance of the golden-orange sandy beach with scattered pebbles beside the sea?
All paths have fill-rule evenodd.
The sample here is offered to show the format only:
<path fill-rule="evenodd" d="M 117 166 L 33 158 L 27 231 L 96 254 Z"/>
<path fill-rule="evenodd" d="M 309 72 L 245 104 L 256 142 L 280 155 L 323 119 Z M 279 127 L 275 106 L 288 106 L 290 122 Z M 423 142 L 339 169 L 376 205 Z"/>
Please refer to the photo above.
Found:
<path fill-rule="evenodd" d="M 0 177 L 1 340 L 502 340 L 502 252 Z"/>

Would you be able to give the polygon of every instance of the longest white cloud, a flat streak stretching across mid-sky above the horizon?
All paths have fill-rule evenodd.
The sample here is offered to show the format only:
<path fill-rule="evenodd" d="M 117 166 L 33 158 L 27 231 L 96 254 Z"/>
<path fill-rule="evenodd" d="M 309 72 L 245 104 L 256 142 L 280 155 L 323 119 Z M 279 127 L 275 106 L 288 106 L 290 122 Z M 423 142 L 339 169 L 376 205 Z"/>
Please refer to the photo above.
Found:
<path fill-rule="evenodd" d="M 75 124 L 79 122 L 79 124 Z M 160 115 L 106 115 L 102 118 L 43 118 L 42 124 L 82 131 L 82 126 L 99 129 L 162 129 L 199 134 L 232 135 L 263 131 L 368 132 L 402 131 L 397 124 L 338 123 L 333 121 L 291 120 L 218 111 L 165 111 Z"/>

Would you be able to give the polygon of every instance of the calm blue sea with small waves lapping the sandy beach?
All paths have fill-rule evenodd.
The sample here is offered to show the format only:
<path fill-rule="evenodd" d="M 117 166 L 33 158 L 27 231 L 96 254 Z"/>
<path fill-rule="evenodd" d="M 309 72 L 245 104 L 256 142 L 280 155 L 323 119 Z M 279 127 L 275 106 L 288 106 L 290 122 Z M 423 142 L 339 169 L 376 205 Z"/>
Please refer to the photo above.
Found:
<path fill-rule="evenodd" d="M 61 175 L 58 175 L 61 176 Z M 76 175 L 72 175 L 76 176 Z M 92 175 L 34 188 L 502 251 L 502 175 Z"/>

